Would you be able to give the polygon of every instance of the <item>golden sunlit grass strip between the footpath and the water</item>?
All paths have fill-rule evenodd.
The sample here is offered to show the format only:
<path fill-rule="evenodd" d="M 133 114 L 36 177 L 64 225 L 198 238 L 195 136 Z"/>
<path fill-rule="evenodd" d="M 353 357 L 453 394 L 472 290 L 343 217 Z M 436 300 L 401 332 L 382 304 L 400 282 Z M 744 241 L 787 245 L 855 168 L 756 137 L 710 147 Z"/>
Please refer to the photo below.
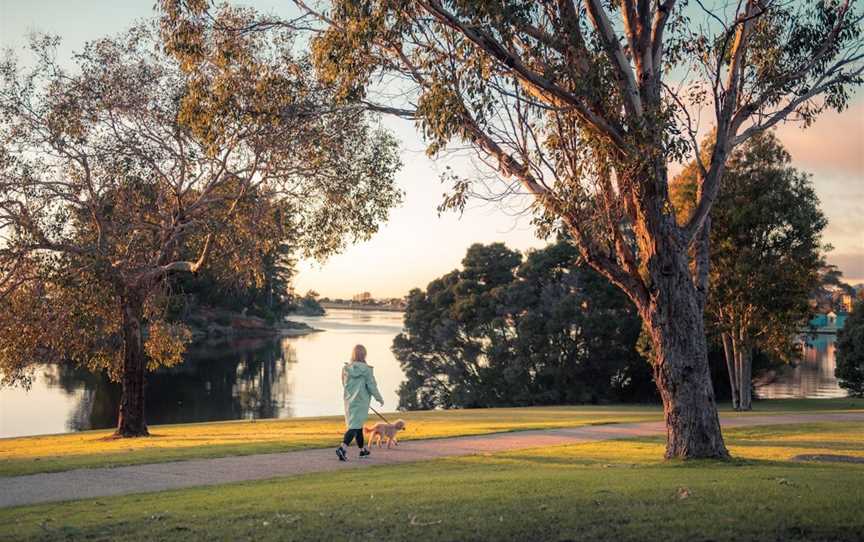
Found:
<path fill-rule="evenodd" d="M 735 414 L 723 406 L 724 415 Z M 864 400 L 763 401 L 755 414 L 864 409 Z M 531 407 L 388 414 L 408 422 L 404 440 L 501 431 L 578 427 L 662 419 L 657 405 Z M 344 432 L 341 416 L 256 422 L 152 426 L 152 436 L 111 439 L 111 431 L 0 439 L 0 476 L 73 468 L 158 463 L 330 446 Z"/>

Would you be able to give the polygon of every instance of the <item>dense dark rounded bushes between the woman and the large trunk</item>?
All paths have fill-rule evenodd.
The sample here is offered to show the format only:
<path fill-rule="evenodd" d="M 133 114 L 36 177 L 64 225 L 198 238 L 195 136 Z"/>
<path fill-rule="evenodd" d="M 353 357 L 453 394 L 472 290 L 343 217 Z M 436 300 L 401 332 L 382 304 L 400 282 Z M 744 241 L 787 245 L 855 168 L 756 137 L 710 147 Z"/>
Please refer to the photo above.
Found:
<path fill-rule="evenodd" d="M 400 406 L 653 397 L 650 366 L 635 351 L 635 309 L 576 259 L 565 241 L 524 262 L 501 243 L 473 245 L 461 271 L 413 290 L 393 341 L 406 375 Z"/>

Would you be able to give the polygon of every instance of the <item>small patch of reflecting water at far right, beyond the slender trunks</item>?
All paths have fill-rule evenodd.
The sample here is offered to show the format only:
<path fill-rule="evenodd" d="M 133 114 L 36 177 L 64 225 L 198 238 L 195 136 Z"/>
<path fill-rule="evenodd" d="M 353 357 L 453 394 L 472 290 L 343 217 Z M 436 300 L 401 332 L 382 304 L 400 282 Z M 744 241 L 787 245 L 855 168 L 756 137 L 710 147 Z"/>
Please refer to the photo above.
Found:
<path fill-rule="evenodd" d="M 846 390 L 834 376 L 836 340 L 836 335 L 827 333 L 802 337 L 801 361 L 770 375 L 769 383 L 757 385 L 757 395 L 764 399 L 845 397 Z"/>

